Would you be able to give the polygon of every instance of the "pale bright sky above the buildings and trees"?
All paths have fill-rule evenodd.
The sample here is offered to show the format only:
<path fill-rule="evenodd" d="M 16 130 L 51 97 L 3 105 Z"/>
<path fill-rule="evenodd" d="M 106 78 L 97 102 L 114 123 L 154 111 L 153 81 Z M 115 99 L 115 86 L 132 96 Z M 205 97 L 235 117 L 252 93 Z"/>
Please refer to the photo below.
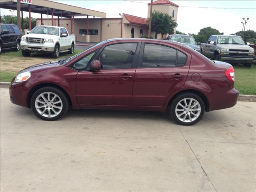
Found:
<path fill-rule="evenodd" d="M 64 4 L 70 4 L 101 12 L 106 12 L 108 18 L 120 17 L 118 13 L 132 14 L 143 18 L 147 17 L 150 0 L 53 0 Z M 256 31 L 256 1 L 187 1 L 174 0 L 178 4 L 177 30 L 185 33 L 197 33 L 201 28 L 211 26 L 224 34 L 234 33 L 242 30 L 242 18 L 250 18 L 246 24 L 246 30 Z M 254 8 L 254 9 L 212 9 L 212 8 L 191 8 L 195 7 L 225 7 L 225 8 Z M 9 10 L 1 9 L 1 15 L 10 14 Z M 16 12 L 14 12 L 16 14 Z M 24 16 L 28 16 L 24 13 Z M 40 15 L 32 14 L 39 18 Z M 46 18 L 46 16 L 44 16 Z"/>

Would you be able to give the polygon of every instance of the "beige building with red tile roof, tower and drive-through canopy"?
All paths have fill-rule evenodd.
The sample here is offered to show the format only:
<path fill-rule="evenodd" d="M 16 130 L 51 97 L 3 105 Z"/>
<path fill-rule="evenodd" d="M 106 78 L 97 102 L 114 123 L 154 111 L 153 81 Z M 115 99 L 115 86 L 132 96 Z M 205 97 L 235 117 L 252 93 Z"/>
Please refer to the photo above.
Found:
<path fill-rule="evenodd" d="M 142 38 L 148 36 L 148 18 L 150 6 L 148 4 L 147 18 L 141 18 L 130 14 L 121 14 L 119 18 L 106 18 L 106 13 L 86 8 L 80 8 L 59 2 L 48 0 L 20 0 L 21 15 L 23 11 L 40 13 L 41 18 L 36 19 L 36 25 L 63 26 L 69 34 L 76 36 L 76 41 L 100 42 L 110 38 Z M 1 0 L 1 8 L 16 10 L 15 0 Z M 152 11 L 167 13 L 177 21 L 178 5 L 169 0 L 156 0 L 152 4 Z M 47 18 L 43 18 L 46 14 Z M 57 16 L 57 18 L 54 18 Z M 78 18 L 86 16 L 86 18 Z M 23 23 L 23 22 L 22 22 Z M 22 30 L 24 28 L 22 27 Z M 31 30 L 31 23 L 30 23 Z M 176 29 L 174 30 L 176 31 Z M 152 37 L 155 33 L 152 32 Z M 157 38 L 161 38 L 158 34 Z"/>

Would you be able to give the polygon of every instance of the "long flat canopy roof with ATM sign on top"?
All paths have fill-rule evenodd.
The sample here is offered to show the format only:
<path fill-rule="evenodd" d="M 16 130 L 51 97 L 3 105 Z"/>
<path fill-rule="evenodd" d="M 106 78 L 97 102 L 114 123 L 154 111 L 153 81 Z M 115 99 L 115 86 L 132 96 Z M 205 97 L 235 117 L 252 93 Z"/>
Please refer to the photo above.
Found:
<path fill-rule="evenodd" d="M 21 2 L 20 10 L 28 12 L 28 5 L 29 4 Z M 74 14 L 75 16 L 90 15 L 100 18 L 106 18 L 106 13 L 104 12 L 94 11 L 86 8 L 67 5 L 59 2 L 53 2 L 49 0 L 32 0 L 30 5 L 32 13 L 40 13 L 47 15 L 48 9 L 48 14 L 51 15 L 53 9 L 54 16 L 61 16 L 62 13 L 62 17 L 70 18 L 70 14 L 72 12 L 72 14 Z M 0 8 L 17 10 L 17 0 L 0 0 Z"/>

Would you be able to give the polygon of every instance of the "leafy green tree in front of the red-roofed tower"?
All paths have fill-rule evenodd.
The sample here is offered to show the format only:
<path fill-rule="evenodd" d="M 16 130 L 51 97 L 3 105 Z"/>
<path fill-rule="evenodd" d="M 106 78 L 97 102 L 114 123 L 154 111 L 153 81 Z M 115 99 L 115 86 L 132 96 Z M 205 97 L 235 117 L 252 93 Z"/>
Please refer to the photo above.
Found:
<path fill-rule="evenodd" d="M 149 26 L 149 20 L 148 20 Z M 178 24 L 172 19 L 172 16 L 168 15 L 167 13 L 162 13 L 159 11 L 152 12 L 152 20 L 151 20 L 151 31 L 156 32 L 156 36 L 158 34 L 173 34 L 174 28 L 177 27 Z"/>

